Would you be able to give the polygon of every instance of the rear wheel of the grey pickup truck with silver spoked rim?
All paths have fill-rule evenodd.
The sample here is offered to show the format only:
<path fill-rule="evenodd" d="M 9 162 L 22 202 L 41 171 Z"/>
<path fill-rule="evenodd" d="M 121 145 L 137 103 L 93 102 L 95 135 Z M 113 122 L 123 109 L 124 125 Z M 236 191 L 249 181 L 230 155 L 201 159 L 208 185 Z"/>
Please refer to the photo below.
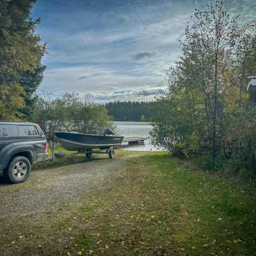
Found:
<path fill-rule="evenodd" d="M 4 179 L 11 183 L 20 183 L 28 179 L 31 163 L 24 156 L 13 157 L 4 170 Z"/>

